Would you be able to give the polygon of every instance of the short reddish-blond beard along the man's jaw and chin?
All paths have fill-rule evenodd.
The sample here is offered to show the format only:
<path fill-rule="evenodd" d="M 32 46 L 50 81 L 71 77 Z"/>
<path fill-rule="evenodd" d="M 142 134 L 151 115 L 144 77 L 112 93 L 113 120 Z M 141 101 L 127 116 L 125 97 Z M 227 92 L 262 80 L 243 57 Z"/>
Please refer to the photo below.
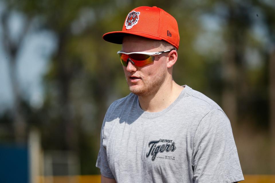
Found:
<path fill-rule="evenodd" d="M 126 81 L 129 86 L 129 90 L 133 94 L 137 96 L 148 96 L 150 94 L 157 92 L 158 89 L 160 89 L 160 86 L 164 82 L 166 76 L 167 76 L 167 72 L 165 68 L 162 68 L 162 70 L 158 71 L 158 74 L 156 74 L 152 78 L 149 78 L 148 81 L 145 81 L 143 78 L 141 78 L 143 81 L 143 84 L 140 85 L 140 87 L 135 87 L 135 85 L 130 85 L 127 78 L 126 78 Z"/>

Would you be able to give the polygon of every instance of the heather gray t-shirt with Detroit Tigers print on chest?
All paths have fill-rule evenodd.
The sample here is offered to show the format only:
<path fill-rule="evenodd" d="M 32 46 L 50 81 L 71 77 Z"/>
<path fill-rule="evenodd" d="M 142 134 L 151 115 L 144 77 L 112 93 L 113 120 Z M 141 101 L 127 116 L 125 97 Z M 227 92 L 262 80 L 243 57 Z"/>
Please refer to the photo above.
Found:
<path fill-rule="evenodd" d="M 243 180 L 229 119 L 188 87 L 161 112 L 145 112 L 129 94 L 109 107 L 96 166 L 117 182 Z"/>

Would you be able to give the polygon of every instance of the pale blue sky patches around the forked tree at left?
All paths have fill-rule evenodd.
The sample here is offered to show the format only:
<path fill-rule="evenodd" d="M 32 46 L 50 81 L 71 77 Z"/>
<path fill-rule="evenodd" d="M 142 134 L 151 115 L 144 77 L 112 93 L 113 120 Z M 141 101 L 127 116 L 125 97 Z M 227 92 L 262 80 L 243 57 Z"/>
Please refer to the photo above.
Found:
<path fill-rule="evenodd" d="M 1 13 L 1 9 L 0 9 Z M 17 40 L 24 17 L 16 12 L 11 14 L 9 32 L 12 40 Z M 20 93 L 34 108 L 43 105 L 43 75 L 48 70 L 50 56 L 56 47 L 56 38 L 50 31 L 30 31 L 23 40 L 17 60 L 17 79 Z M 9 77 L 9 59 L 3 49 L 2 29 L 0 27 L 0 113 L 11 108 L 13 95 Z"/>

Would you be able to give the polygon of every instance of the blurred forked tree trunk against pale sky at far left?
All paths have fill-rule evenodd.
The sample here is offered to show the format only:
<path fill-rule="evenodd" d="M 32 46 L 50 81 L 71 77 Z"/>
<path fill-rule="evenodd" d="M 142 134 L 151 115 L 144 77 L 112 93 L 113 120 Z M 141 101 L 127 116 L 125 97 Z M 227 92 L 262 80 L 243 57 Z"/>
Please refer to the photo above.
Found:
<path fill-rule="evenodd" d="M 3 48 L 6 53 L 6 60 L 9 65 L 9 76 L 10 83 L 12 87 L 13 94 L 13 107 L 12 107 L 12 118 L 13 118 L 13 127 L 14 127 L 14 136 L 15 141 L 18 144 L 24 144 L 26 142 L 26 116 L 23 112 L 23 98 L 21 95 L 21 91 L 19 88 L 19 82 L 17 79 L 17 61 L 18 55 L 21 51 L 22 44 L 25 36 L 28 33 L 31 18 L 29 16 L 25 17 L 25 22 L 23 23 L 23 27 L 19 32 L 19 36 L 15 37 L 11 35 L 11 27 L 9 26 L 9 20 L 11 18 L 11 14 L 13 13 L 13 7 L 9 4 L 5 4 L 4 9 L 0 14 L 1 19 L 1 27 L 2 27 L 2 35 L 3 38 Z"/>

